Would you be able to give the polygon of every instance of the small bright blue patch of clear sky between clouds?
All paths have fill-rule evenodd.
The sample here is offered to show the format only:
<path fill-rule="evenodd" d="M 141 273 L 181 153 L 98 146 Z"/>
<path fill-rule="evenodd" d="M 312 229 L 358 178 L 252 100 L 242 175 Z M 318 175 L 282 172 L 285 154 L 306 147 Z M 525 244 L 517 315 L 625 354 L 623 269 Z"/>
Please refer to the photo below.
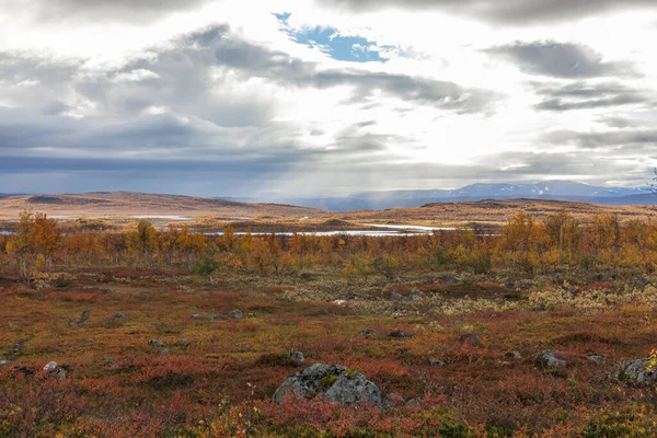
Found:
<path fill-rule="evenodd" d="M 286 25 L 285 32 L 292 41 L 309 47 L 316 47 L 333 59 L 350 62 L 385 62 L 381 50 L 394 49 L 393 46 L 378 46 L 361 36 L 343 36 L 335 27 L 316 26 L 311 30 L 295 30 L 288 26 L 290 13 L 274 14 Z"/>

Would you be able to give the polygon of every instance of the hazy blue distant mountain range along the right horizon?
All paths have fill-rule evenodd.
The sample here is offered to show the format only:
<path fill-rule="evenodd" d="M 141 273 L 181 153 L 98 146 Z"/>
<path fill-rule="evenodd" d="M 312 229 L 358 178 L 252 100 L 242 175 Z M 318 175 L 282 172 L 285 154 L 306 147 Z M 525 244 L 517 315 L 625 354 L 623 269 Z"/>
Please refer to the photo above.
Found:
<path fill-rule="evenodd" d="M 279 201 L 326 210 L 380 210 L 418 207 L 425 204 L 482 199 L 555 199 L 604 205 L 657 204 L 646 187 L 602 187 L 573 181 L 546 181 L 518 184 L 471 184 L 456 189 L 364 192 L 344 197 L 313 198 L 235 198 L 247 201 Z"/>

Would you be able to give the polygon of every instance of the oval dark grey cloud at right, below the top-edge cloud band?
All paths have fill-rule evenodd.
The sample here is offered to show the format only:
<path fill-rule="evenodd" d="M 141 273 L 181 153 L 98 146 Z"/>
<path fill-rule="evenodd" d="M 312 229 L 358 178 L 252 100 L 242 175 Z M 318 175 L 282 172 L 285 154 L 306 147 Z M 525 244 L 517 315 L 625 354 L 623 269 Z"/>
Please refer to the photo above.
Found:
<path fill-rule="evenodd" d="M 516 42 L 485 50 L 498 55 L 528 74 L 555 78 L 636 77 L 630 62 L 606 62 L 590 47 L 555 42 Z"/>

